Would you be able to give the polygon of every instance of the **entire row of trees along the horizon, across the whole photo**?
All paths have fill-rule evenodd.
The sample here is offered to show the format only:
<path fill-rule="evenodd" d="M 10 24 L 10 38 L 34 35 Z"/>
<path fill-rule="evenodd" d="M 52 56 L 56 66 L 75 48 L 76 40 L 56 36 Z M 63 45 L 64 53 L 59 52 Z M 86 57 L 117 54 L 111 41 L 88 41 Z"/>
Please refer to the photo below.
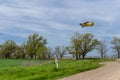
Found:
<path fill-rule="evenodd" d="M 46 46 L 47 40 L 43 36 L 33 33 L 28 36 L 22 45 L 17 45 L 13 40 L 5 41 L 0 45 L 0 57 L 47 59 L 54 55 L 63 58 L 66 53 L 70 53 L 76 59 L 80 59 L 81 57 L 85 58 L 86 54 L 94 49 L 101 54 L 101 58 L 105 57 L 107 52 L 106 42 L 99 41 L 91 33 L 75 33 L 70 40 L 70 46 L 56 46 L 54 49 L 51 49 Z M 118 58 L 120 58 L 120 37 L 114 37 L 111 44 Z"/>

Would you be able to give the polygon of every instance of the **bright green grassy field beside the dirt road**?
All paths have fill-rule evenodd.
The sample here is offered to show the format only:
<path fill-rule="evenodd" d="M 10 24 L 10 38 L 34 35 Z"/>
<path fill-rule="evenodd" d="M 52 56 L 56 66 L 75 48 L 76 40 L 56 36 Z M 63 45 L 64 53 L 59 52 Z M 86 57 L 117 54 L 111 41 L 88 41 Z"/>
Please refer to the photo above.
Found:
<path fill-rule="evenodd" d="M 100 67 L 101 59 L 60 60 L 55 68 L 53 60 L 0 59 L 0 80 L 56 80 L 61 77 Z"/>

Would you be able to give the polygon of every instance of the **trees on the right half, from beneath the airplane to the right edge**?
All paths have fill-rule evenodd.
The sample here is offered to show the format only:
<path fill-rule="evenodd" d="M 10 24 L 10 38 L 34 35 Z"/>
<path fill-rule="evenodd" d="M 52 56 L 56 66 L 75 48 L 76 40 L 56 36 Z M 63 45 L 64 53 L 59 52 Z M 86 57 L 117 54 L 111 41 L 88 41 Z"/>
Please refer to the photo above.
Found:
<path fill-rule="evenodd" d="M 100 41 L 94 37 L 91 33 L 79 34 L 75 33 L 71 38 L 71 47 L 69 51 L 76 56 L 76 59 L 84 59 L 86 54 L 92 50 L 97 50 L 100 53 L 101 58 L 105 58 L 108 47 L 106 41 Z M 117 53 L 120 58 L 120 37 L 113 37 L 111 40 L 112 49 Z"/>

